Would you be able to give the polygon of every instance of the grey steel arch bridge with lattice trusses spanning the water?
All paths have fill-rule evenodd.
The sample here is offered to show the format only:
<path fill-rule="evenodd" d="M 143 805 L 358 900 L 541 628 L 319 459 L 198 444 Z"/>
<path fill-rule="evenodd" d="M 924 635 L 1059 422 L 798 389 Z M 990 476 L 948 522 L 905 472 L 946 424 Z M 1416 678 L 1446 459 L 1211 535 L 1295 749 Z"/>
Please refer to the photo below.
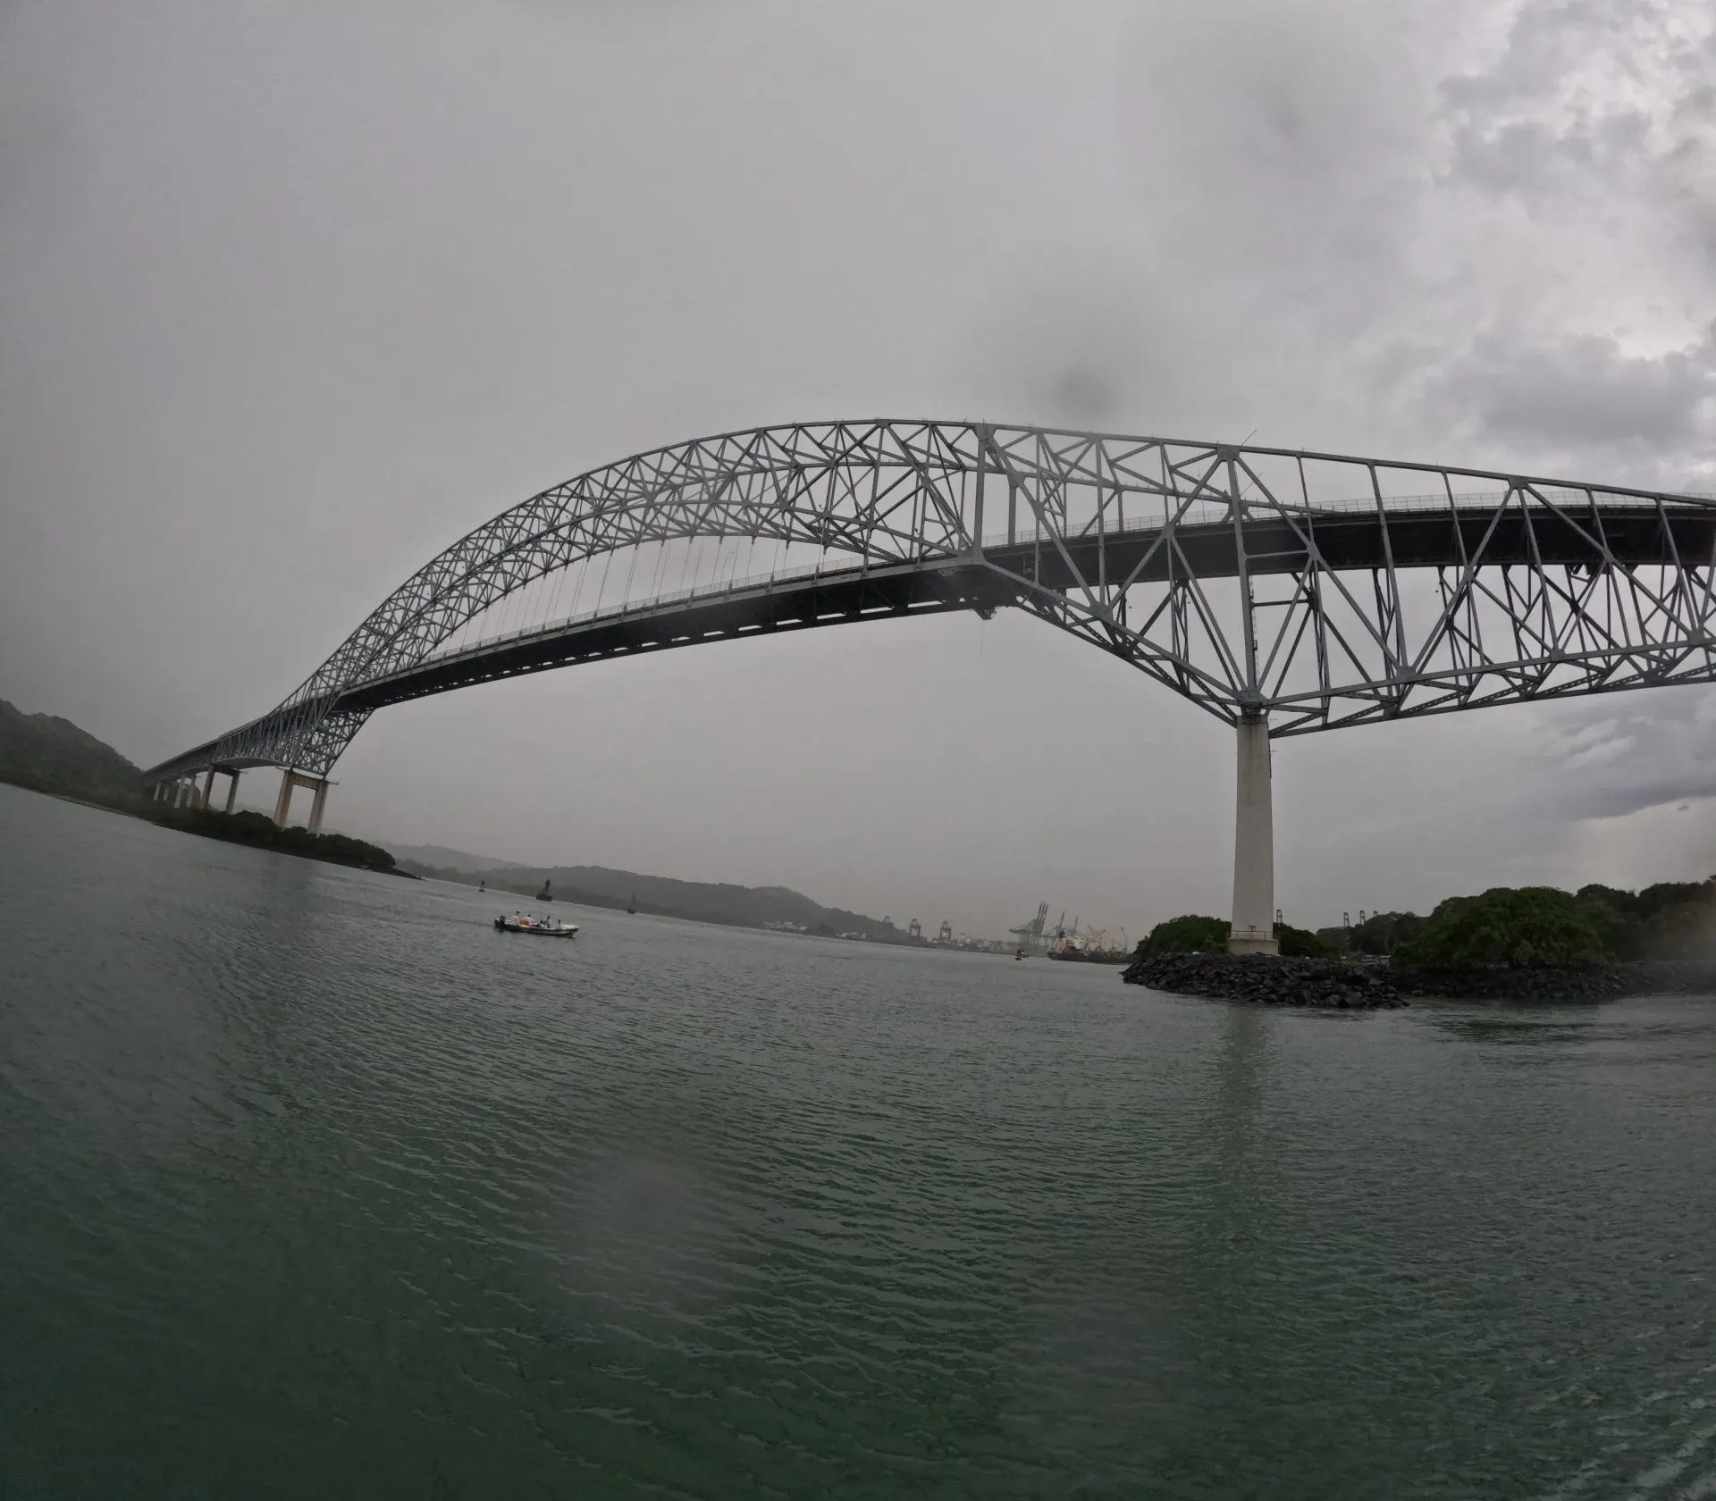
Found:
<path fill-rule="evenodd" d="M 813 563 L 726 580 L 717 568 L 692 588 L 480 630 L 573 564 L 697 539 Z M 281 767 L 280 817 L 297 779 L 319 784 L 319 822 L 328 772 L 390 703 L 702 642 L 1011 606 L 1236 724 L 1241 805 L 1261 755 L 1266 818 L 1272 736 L 1716 681 L 1713 580 L 1704 496 L 983 422 L 762 427 L 640 453 L 501 513 L 388 595 L 276 708 L 146 777 Z"/>

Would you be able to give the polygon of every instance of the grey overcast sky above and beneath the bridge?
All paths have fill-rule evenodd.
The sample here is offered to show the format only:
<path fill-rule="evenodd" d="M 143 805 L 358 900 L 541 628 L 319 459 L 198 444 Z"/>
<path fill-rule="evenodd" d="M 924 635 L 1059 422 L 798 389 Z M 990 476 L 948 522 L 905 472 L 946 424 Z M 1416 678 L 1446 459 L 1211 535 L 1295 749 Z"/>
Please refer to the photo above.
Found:
<path fill-rule="evenodd" d="M 1707 0 L 0 0 L 0 696 L 148 765 L 503 508 L 776 420 L 1716 491 L 1713 293 Z M 1713 731 L 1282 743 L 1278 902 L 1707 875 Z M 444 695 L 335 775 L 383 842 L 971 931 L 1230 894 L 1232 732 L 1016 612 Z"/>

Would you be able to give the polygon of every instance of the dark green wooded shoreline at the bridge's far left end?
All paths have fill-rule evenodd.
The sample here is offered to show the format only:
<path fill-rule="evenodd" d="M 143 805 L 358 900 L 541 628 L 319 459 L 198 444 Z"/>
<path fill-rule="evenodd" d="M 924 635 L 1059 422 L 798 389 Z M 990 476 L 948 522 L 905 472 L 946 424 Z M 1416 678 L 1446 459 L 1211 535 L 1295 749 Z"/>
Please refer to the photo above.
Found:
<path fill-rule="evenodd" d="M 96 803 L 115 813 L 146 818 L 182 834 L 278 849 L 333 865 L 393 870 L 393 856 L 345 834 L 278 829 L 261 813 L 216 813 L 209 808 L 170 808 L 142 786 L 142 772 L 110 744 L 51 714 L 24 714 L 0 698 L 0 782 Z"/>

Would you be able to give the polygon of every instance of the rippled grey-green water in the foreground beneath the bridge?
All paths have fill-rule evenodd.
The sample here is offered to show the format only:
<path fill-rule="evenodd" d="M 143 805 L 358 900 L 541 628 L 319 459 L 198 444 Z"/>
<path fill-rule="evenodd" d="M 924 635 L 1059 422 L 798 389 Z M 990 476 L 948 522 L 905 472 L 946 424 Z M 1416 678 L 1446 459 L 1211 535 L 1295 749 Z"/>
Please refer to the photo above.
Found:
<path fill-rule="evenodd" d="M 1275 1014 L 0 787 L 0 1494 L 1716 1496 L 1716 1002 Z"/>

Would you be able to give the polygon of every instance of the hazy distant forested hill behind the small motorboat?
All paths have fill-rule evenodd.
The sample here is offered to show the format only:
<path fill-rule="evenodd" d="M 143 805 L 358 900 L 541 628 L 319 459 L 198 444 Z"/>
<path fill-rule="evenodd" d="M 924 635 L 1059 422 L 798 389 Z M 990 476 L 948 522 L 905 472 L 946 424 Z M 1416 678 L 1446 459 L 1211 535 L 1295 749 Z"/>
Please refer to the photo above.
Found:
<path fill-rule="evenodd" d="M 448 851 L 456 854 L 456 851 Z M 463 861 L 462 861 L 463 863 Z M 477 861 L 470 861 L 475 865 Z M 431 875 L 456 880 L 463 885 L 487 882 L 496 890 L 518 892 L 534 897 L 542 882 L 553 882 L 553 892 L 563 902 L 583 902 L 592 907 L 623 907 L 633 897 L 640 913 L 657 913 L 668 918 L 695 918 L 700 923 L 728 923 L 731 926 L 760 928 L 764 923 L 796 923 L 801 928 L 834 933 L 887 935 L 892 930 L 877 918 L 848 913 L 841 907 L 824 907 L 803 892 L 788 887 L 743 887 L 726 882 L 673 880 L 664 875 L 640 875 L 631 870 L 609 870 L 604 865 L 553 865 L 553 866 L 491 866 L 460 870 L 431 866 L 403 859 L 402 866 L 414 875 Z"/>

